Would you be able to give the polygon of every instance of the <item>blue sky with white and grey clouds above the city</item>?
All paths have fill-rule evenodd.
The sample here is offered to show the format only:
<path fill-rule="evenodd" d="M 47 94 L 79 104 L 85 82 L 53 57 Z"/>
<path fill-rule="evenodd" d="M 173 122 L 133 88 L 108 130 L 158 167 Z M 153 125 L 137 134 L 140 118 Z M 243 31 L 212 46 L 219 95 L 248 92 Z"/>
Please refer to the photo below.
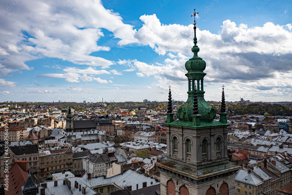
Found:
<path fill-rule="evenodd" d="M 206 100 L 292 101 L 291 4 L 4 0 L 0 101 L 186 100 L 194 8 Z"/>

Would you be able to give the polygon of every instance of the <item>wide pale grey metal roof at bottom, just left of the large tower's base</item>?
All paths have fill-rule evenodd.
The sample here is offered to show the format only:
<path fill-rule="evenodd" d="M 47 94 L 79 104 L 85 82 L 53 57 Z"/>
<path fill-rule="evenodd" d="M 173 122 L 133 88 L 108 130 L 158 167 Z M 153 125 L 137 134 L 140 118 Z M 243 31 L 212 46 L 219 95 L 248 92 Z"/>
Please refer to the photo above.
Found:
<path fill-rule="evenodd" d="M 87 177 L 86 177 L 87 179 Z M 108 184 L 116 184 L 120 188 L 124 188 L 125 186 L 136 186 L 138 184 L 138 189 L 142 188 L 142 183 L 147 182 L 148 186 L 154 186 L 155 184 L 159 184 L 160 182 L 156 182 L 154 178 L 147 177 L 144 174 L 139 174 L 136 171 L 132 171 L 131 169 L 126 170 L 124 173 L 119 175 L 115 175 L 113 177 L 104 178 L 103 176 L 100 177 L 93 177 L 91 178 L 91 187 L 103 186 Z M 151 182 L 153 182 L 151 184 Z"/>

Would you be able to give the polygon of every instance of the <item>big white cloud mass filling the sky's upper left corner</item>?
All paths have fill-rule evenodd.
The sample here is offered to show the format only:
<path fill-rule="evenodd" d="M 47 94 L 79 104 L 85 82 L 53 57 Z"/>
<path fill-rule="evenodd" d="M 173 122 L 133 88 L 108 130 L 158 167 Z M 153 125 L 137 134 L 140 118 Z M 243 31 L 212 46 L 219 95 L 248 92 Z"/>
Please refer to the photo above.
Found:
<path fill-rule="evenodd" d="M 100 0 L 63 2 L 18 1 L 9 12 L 0 14 L 0 64 L 4 68 L 30 70 L 25 63 L 42 57 L 57 59 L 52 60 L 54 65 L 63 60 L 108 68 L 112 61 L 90 55 L 110 50 L 97 45 L 104 36 L 103 28 L 119 38 L 119 45 L 137 42 L 133 26 L 124 24 L 122 17 Z M 1 7 L 6 4 L 0 1 Z"/>

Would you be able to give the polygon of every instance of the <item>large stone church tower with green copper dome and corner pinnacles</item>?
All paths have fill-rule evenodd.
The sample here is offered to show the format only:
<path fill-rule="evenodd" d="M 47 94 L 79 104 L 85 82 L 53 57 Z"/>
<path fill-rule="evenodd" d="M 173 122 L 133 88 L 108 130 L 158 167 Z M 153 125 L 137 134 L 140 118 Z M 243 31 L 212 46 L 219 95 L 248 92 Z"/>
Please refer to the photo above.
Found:
<path fill-rule="evenodd" d="M 192 16 L 196 16 L 196 12 Z M 167 154 L 157 158 L 161 195 L 235 194 L 235 175 L 240 168 L 227 156 L 227 113 L 224 88 L 220 121 L 214 121 L 215 109 L 204 99 L 206 62 L 198 57 L 194 20 L 194 56 L 185 63 L 188 99 L 173 121 L 171 90 L 168 96 Z"/>

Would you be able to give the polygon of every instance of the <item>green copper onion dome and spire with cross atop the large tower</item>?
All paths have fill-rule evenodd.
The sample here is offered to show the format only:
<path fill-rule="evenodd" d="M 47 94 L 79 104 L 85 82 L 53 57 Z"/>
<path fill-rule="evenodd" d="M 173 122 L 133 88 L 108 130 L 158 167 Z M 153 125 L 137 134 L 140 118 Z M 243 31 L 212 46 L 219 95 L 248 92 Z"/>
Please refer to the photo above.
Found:
<path fill-rule="evenodd" d="M 188 99 L 177 111 L 177 116 L 181 121 L 192 121 L 193 114 L 193 103 L 194 103 L 194 91 L 195 82 L 197 83 L 197 98 L 198 98 L 198 110 L 201 114 L 201 121 L 211 122 L 216 117 L 215 109 L 209 105 L 204 99 L 204 70 L 206 69 L 206 62 L 198 57 L 198 52 L 200 51 L 197 46 L 196 37 L 196 12 L 192 14 L 194 16 L 194 46 L 192 47 L 192 52 L 194 56 L 185 63 L 185 69 L 187 73 L 185 76 L 188 78 Z"/>

